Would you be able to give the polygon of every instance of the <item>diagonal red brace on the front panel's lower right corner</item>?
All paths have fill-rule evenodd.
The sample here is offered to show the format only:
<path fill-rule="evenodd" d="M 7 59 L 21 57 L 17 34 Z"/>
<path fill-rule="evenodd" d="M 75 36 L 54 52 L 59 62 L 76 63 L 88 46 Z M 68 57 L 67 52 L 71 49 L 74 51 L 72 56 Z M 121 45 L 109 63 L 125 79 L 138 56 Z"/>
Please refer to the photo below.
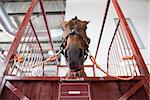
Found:
<path fill-rule="evenodd" d="M 130 90 L 128 90 L 124 95 L 122 95 L 119 100 L 127 100 L 130 96 L 132 96 L 137 90 L 139 90 L 143 86 L 143 80 L 135 84 Z"/>

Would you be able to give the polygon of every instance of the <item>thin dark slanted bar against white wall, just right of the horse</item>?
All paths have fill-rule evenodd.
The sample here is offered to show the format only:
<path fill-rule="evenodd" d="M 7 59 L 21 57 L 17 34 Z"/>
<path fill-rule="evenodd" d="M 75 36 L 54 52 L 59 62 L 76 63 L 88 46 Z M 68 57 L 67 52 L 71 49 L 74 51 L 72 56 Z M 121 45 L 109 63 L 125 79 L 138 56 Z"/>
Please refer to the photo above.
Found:
<path fill-rule="evenodd" d="M 104 19 L 103 19 L 103 24 L 102 24 L 102 28 L 101 28 L 101 32 L 100 32 L 100 36 L 99 36 L 99 40 L 98 40 L 98 44 L 97 44 L 97 49 L 96 49 L 96 53 L 95 53 L 95 58 L 97 57 L 97 53 L 98 53 L 98 50 L 99 50 L 102 34 L 103 34 L 103 31 L 104 31 L 104 26 L 105 26 L 105 23 L 106 23 L 106 18 L 107 18 L 107 14 L 108 14 L 108 10 L 109 10 L 109 5 L 110 5 L 110 0 L 107 1 L 106 10 L 105 10 Z"/>

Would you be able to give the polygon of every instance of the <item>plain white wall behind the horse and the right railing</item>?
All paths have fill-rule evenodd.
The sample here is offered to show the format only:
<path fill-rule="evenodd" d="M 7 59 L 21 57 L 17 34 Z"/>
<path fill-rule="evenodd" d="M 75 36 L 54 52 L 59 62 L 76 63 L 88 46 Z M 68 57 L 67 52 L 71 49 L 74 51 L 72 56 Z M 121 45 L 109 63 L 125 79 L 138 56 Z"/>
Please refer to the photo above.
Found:
<path fill-rule="evenodd" d="M 145 49 L 142 49 L 142 55 L 146 63 L 148 63 L 148 0 L 118 0 L 125 14 L 130 18 L 137 29 Z M 107 0 L 67 0 L 66 4 L 66 20 L 78 16 L 81 20 L 90 20 L 87 33 L 91 39 L 90 51 L 95 54 L 97 42 L 100 34 L 102 20 L 104 16 Z M 114 32 L 114 18 L 117 17 L 112 5 L 108 14 L 109 19 L 106 22 L 104 34 L 102 36 L 101 45 L 98 52 L 98 63 L 106 69 L 106 59 L 110 40 Z M 115 16 L 115 17 L 114 17 Z M 150 24 L 149 24 L 150 26 Z M 149 29 L 150 32 L 150 29 Z M 149 35 L 150 39 L 150 35 Z M 150 54 L 150 53 L 149 53 Z M 89 64 L 87 61 L 86 64 Z"/>

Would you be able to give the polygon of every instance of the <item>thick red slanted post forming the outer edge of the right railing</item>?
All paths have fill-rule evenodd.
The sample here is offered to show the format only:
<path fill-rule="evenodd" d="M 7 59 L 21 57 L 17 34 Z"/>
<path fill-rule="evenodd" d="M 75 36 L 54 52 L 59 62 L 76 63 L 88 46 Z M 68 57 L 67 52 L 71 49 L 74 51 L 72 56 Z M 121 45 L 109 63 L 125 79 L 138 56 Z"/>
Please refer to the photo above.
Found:
<path fill-rule="evenodd" d="M 140 53 L 140 50 L 139 50 L 139 48 L 136 44 L 136 41 L 135 41 L 135 39 L 132 35 L 132 32 L 131 32 L 128 24 L 127 24 L 127 21 L 125 20 L 125 17 L 122 13 L 122 10 L 121 10 L 117 0 L 112 0 L 112 2 L 113 2 L 113 5 L 115 7 L 115 10 L 118 14 L 118 17 L 120 19 L 120 23 L 121 23 L 121 25 L 122 25 L 125 33 L 126 33 L 126 36 L 127 36 L 128 41 L 129 41 L 130 47 L 133 51 L 133 55 L 136 58 L 136 63 L 137 63 L 137 66 L 140 70 L 140 73 L 141 73 L 141 75 L 148 75 L 149 74 L 148 69 L 147 69 L 146 64 L 144 62 L 144 59 L 143 59 L 143 57 Z"/>

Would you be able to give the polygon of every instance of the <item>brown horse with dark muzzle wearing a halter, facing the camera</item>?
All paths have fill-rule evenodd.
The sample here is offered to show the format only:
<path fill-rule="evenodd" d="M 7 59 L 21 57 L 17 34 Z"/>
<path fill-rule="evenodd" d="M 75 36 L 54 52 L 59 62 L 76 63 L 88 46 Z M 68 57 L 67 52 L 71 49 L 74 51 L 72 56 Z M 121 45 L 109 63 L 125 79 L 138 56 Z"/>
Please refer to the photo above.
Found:
<path fill-rule="evenodd" d="M 83 63 L 87 59 L 90 38 L 87 37 L 86 29 L 89 21 L 79 20 L 77 17 L 64 22 L 66 36 L 62 42 L 63 54 L 69 67 L 67 77 L 86 76 Z"/>

